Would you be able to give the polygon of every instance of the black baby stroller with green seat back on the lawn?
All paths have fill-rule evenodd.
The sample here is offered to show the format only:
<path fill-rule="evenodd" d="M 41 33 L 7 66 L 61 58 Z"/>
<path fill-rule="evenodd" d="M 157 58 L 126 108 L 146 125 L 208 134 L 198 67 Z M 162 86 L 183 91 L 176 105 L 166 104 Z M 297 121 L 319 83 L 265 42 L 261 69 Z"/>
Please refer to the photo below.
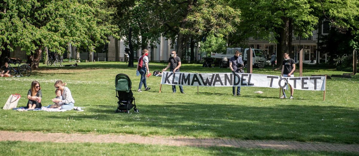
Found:
<path fill-rule="evenodd" d="M 118 105 L 116 113 L 125 112 L 130 113 L 130 110 L 134 108 L 134 112 L 138 113 L 136 108 L 135 97 L 131 90 L 131 79 L 126 74 L 117 74 L 115 79 L 116 97 L 118 98 Z M 132 104 L 134 102 L 134 104 Z"/>

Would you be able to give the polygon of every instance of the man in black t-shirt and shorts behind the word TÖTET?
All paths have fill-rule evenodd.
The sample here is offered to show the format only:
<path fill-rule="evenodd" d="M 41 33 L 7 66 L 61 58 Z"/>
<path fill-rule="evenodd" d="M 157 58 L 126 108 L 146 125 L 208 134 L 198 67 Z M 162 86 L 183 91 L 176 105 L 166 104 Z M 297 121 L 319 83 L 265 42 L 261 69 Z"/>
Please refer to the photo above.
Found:
<path fill-rule="evenodd" d="M 287 53 L 284 53 L 283 54 L 283 63 L 282 63 L 282 73 L 281 75 L 283 77 L 294 77 L 293 75 L 293 72 L 295 70 L 295 63 L 294 63 L 294 60 L 289 58 L 288 54 Z M 293 99 L 293 92 L 294 92 L 294 89 L 292 86 L 290 86 L 290 99 Z M 280 97 L 281 99 L 284 99 L 286 98 L 286 95 L 285 95 L 285 92 L 284 92 L 284 89 L 282 88 L 282 91 L 283 91 L 283 96 Z"/>

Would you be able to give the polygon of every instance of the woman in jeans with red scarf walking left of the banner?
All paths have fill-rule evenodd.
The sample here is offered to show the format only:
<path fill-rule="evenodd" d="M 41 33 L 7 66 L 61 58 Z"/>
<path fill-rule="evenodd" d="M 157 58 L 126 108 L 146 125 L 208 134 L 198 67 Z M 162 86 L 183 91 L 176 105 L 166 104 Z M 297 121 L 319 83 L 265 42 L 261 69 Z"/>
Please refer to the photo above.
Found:
<path fill-rule="evenodd" d="M 150 87 L 147 87 L 146 76 L 150 73 L 150 69 L 148 68 L 148 50 L 142 50 L 142 56 L 138 59 L 137 70 L 141 74 L 140 84 L 138 86 L 138 92 L 142 92 L 142 84 L 145 86 L 145 91 L 150 90 Z M 147 72 L 147 75 L 146 75 Z"/>

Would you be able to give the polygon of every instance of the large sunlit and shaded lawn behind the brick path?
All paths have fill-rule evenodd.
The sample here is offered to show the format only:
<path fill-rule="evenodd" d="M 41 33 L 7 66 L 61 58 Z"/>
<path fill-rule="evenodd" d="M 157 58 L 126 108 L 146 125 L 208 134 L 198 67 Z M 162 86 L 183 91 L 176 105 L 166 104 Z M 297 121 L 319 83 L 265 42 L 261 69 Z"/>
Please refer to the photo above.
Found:
<path fill-rule="evenodd" d="M 19 93 L 22 98 L 18 106 L 25 106 L 28 89 L 35 80 L 42 87 L 42 104 L 52 104 L 51 99 L 56 97 L 53 84 L 61 79 L 71 90 L 75 106 L 85 107 L 84 112 L 1 109 L 0 130 L 359 143 L 358 75 L 351 79 L 328 79 L 326 101 L 323 101 L 322 91 L 300 90 L 295 90 L 295 99 L 290 100 L 279 99 L 279 89 L 257 87 L 242 87 L 241 97 L 232 96 L 232 87 L 200 87 L 197 94 L 197 87 L 184 86 L 186 94 L 173 94 L 171 86 L 163 85 L 162 93 L 158 93 L 160 77 L 154 76 L 147 80 L 151 89 L 139 93 L 136 91 L 140 77 L 136 76 L 136 69 L 127 68 L 127 64 L 90 62 L 79 65 L 48 67 L 41 64 L 30 77 L 0 78 L 2 104 L 10 94 Z M 149 68 L 153 72 L 165 66 L 165 63 L 150 63 Z M 181 72 L 230 70 L 183 64 Z M 140 113 L 115 113 L 115 76 L 118 73 L 130 76 Z M 279 75 L 280 71 L 264 68 L 254 69 L 253 73 Z M 310 68 L 304 69 L 303 75 L 342 73 Z"/>

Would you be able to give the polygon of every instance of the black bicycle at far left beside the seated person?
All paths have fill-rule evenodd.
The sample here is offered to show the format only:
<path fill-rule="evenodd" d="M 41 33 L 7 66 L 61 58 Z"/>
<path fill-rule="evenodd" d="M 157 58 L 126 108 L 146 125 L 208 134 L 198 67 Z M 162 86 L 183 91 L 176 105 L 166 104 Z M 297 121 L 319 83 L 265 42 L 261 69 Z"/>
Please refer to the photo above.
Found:
<path fill-rule="evenodd" d="M 5 57 L 5 59 L 8 59 L 7 57 Z M 14 61 L 11 61 L 14 60 Z M 13 63 L 14 65 L 18 64 L 18 68 L 17 70 L 13 67 L 11 67 L 10 63 Z M 30 76 L 31 75 L 31 67 L 28 64 L 22 64 L 21 65 L 22 60 L 20 59 L 15 59 L 15 58 L 10 58 L 8 59 L 8 65 L 9 67 L 11 67 L 11 76 L 15 76 L 15 77 L 20 77 L 20 76 Z M 5 65 L 1 66 L 0 68 L 0 72 L 2 72 L 3 70 L 5 70 Z"/>

